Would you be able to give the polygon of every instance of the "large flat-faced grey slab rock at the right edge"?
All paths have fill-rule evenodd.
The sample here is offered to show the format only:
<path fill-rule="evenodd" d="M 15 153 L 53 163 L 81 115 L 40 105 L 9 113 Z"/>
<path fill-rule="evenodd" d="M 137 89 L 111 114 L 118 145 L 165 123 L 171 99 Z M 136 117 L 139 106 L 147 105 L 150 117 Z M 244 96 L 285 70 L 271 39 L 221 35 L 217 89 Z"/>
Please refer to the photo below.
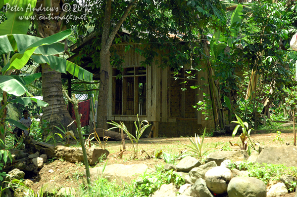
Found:
<path fill-rule="evenodd" d="M 256 162 L 260 164 L 285 164 L 287 167 L 297 166 L 297 159 L 292 157 L 294 155 L 297 155 L 297 147 L 295 146 L 265 146 Z"/>

